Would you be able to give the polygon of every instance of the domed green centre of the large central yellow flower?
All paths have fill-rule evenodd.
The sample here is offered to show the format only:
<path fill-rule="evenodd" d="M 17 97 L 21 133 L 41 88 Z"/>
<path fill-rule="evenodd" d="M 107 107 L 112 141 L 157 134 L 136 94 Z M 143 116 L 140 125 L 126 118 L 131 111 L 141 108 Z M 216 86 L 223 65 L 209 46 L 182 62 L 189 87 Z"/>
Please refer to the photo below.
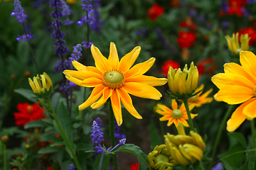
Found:
<path fill-rule="evenodd" d="M 103 74 L 102 81 L 105 86 L 109 86 L 111 89 L 117 89 L 124 84 L 124 74 L 117 70 L 110 70 Z"/>

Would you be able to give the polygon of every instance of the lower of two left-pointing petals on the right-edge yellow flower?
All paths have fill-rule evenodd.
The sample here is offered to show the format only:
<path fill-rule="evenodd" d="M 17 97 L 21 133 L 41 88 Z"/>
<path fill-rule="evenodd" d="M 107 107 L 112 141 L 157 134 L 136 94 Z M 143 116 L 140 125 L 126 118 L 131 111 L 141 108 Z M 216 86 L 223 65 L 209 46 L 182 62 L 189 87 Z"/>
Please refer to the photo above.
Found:
<path fill-rule="evenodd" d="M 248 89 L 244 86 L 225 86 L 220 89 L 217 94 L 215 94 L 215 98 L 218 101 L 224 101 L 228 104 L 239 104 L 243 103 L 254 96 L 252 89 Z"/>

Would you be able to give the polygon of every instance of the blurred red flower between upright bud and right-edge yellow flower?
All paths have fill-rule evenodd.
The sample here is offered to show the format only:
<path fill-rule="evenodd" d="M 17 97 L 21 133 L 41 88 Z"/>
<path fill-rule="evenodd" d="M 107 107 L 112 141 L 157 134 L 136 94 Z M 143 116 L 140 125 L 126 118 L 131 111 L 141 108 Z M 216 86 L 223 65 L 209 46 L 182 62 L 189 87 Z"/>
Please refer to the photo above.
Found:
<path fill-rule="evenodd" d="M 198 62 L 197 67 L 198 67 L 199 77 L 201 77 L 205 73 L 213 74 L 213 70 L 217 67 L 217 65 L 214 64 L 213 62 L 214 62 L 213 58 L 204 59 L 204 60 L 201 60 L 201 62 Z"/>

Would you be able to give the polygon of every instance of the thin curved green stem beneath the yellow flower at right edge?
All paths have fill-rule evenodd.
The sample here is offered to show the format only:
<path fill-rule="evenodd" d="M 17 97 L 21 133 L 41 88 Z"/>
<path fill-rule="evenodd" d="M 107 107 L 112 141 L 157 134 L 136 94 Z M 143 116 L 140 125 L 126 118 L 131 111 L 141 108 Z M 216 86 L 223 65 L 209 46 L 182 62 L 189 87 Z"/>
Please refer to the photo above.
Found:
<path fill-rule="evenodd" d="M 210 164 L 208 166 L 208 170 L 210 170 L 211 166 L 213 165 L 213 159 L 215 157 L 216 149 L 218 147 L 218 142 L 220 140 L 220 135 L 221 135 L 221 132 L 223 131 L 223 127 L 224 127 L 225 123 L 227 122 L 228 116 L 230 115 L 230 112 L 232 111 L 232 108 L 233 108 L 233 105 L 230 105 L 229 108 L 228 108 L 228 111 L 225 113 L 224 118 L 223 118 L 223 120 L 220 124 L 220 128 L 218 130 L 218 134 L 217 134 L 217 137 L 215 138 L 215 142 L 214 142 L 214 145 L 213 145 L 213 153 L 212 153 Z"/>

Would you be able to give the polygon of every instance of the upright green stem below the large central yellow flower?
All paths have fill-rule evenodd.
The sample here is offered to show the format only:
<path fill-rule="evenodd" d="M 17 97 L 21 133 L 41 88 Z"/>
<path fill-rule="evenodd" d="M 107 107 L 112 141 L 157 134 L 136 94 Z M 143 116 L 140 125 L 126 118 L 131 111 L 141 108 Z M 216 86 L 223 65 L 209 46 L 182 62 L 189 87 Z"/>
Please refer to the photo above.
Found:
<path fill-rule="evenodd" d="M 111 140 L 111 146 L 115 146 L 115 141 L 114 141 L 114 113 L 113 109 L 111 106 L 111 101 L 110 103 L 110 140 Z M 114 164 L 114 170 L 118 170 L 118 164 L 117 164 L 117 154 L 112 154 L 112 159 L 113 159 L 113 164 Z"/>

